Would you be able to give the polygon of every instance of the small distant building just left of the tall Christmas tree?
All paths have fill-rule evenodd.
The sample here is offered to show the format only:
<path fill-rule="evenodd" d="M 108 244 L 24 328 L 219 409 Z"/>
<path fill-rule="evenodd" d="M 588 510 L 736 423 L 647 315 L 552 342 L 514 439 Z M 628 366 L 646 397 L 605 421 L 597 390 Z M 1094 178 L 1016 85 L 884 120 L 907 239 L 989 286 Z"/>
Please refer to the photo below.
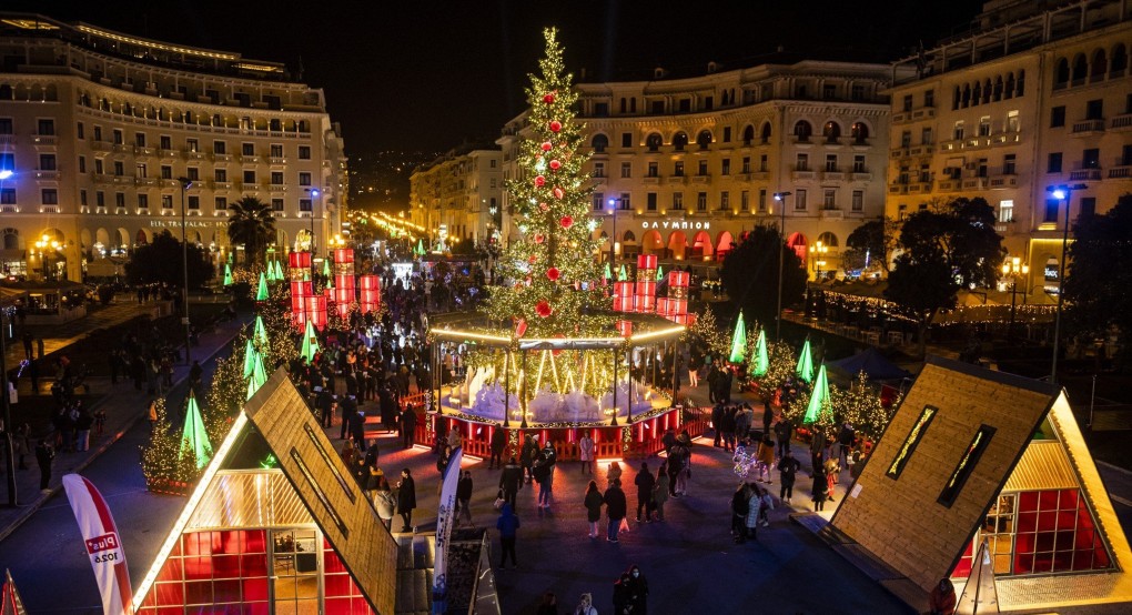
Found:
<path fill-rule="evenodd" d="M 409 179 L 411 222 L 428 229 L 434 247 L 498 237 L 501 163 L 498 150 L 465 147 L 421 165 Z"/>

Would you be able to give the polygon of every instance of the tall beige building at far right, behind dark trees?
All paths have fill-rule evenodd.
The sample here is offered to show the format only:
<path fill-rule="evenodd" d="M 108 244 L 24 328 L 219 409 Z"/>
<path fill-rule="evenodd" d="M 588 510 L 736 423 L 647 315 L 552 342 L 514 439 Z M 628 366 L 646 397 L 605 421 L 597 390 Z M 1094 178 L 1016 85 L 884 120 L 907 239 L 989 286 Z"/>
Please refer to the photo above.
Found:
<path fill-rule="evenodd" d="M 1027 293 L 1057 292 L 1066 224 L 1132 191 L 1130 11 L 994 0 L 971 32 L 895 62 L 887 215 L 985 198 Z"/>

